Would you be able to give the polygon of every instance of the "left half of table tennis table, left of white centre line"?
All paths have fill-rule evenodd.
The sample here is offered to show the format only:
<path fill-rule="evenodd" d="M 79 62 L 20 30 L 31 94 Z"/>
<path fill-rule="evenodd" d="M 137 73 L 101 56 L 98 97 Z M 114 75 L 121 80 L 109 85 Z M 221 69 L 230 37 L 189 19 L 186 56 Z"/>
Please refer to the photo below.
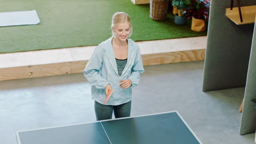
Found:
<path fill-rule="evenodd" d="M 18 141 L 20 140 L 19 143 L 21 144 L 110 143 L 100 122 L 70 125 L 66 127 L 21 131 L 18 134 Z"/>

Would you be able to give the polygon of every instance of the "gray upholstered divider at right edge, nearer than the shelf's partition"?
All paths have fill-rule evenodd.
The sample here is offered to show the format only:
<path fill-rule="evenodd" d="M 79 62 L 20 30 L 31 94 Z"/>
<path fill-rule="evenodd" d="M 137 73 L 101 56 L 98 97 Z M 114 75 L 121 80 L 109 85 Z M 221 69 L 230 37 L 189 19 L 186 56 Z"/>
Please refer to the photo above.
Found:
<path fill-rule="evenodd" d="M 256 23 L 256 22 L 255 22 Z M 256 99 L 256 25 L 254 26 L 253 43 L 249 68 L 247 74 L 246 91 L 243 104 L 240 134 L 255 133 L 256 129 L 256 104 L 251 100 Z"/>

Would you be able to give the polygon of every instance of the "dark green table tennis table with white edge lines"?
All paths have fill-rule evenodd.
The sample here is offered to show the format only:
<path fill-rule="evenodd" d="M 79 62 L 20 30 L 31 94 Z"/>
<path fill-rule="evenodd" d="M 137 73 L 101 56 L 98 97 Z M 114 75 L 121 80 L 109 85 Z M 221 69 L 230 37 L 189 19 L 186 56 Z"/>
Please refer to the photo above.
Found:
<path fill-rule="evenodd" d="M 201 143 L 178 111 L 16 131 L 19 144 Z"/>

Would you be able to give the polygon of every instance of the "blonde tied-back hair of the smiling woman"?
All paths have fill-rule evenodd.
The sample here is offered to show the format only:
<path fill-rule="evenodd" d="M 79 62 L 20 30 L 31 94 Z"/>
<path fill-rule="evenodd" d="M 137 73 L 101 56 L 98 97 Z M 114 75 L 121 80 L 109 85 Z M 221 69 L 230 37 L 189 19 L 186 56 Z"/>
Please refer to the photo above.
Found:
<path fill-rule="evenodd" d="M 130 20 L 130 16 L 124 12 L 118 12 L 118 13 L 115 13 L 112 17 L 112 25 L 111 25 L 111 29 L 112 28 L 116 28 L 117 25 L 119 23 L 124 23 L 124 22 L 128 22 L 129 25 L 130 25 L 130 34 L 128 37 L 131 37 L 132 35 L 132 26 L 131 26 L 131 20 Z M 112 29 L 112 36 L 114 37 L 115 36 L 115 33 Z"/>

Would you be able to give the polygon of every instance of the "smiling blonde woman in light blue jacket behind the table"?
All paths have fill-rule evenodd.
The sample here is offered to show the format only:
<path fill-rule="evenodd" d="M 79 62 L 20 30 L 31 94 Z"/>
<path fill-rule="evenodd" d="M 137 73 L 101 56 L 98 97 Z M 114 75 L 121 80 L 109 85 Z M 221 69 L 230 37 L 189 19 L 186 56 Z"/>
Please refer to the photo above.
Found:
<path fill-rule="evenodd" d="M 132 87 L 138 85 L 144 72 L 138 45 L 129 39 L 132 26 L 129 15 L 123 12 L 112 17 L 112 37 L 103 41 L 92 54 L 84 69 L 84 76 L 91 84 L 95 100 L 97 121 L 129 117 Z M 106 103 L 104 99 L 113 90 Z"/>

